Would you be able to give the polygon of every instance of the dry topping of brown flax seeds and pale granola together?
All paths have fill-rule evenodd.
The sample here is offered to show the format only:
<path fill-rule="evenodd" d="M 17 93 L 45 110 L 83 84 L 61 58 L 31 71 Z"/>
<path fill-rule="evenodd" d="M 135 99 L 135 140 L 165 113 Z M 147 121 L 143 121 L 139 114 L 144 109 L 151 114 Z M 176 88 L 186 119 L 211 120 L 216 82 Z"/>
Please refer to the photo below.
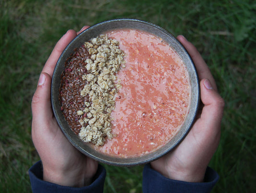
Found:
<path fill-rule="evenodd" d="M 75 48 L 65 62 L 61 109 L 73 132 L 84 142 L 103 145 L 105 137 L 112 138 L 110 113 L 115 106 L 114 95 L 121 88 L 114 81 L 116 73 L 125 67 L 118 44 L 100 35 Z"/>

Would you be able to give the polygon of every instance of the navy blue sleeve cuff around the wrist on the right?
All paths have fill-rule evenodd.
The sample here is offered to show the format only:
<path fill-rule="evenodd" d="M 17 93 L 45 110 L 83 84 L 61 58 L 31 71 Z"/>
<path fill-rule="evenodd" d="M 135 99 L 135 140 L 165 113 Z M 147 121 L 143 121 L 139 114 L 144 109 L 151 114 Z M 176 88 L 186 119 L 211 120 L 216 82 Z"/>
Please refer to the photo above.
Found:
<path fill-rule="evenodd" d="M 171 180 L 146 164 L 143 170 L 143 193 L 209 193 L 218 180 L 218 173 L 209 167 L 204 182 L 194 183 Z"/>

